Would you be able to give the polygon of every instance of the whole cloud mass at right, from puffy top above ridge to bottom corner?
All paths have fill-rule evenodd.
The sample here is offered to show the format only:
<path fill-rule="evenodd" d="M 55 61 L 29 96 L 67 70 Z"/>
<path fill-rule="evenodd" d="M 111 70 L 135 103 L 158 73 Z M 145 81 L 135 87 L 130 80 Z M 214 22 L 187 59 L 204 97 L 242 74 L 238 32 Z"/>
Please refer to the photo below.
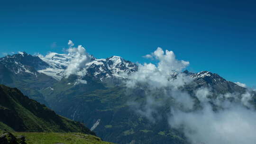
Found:
<path fill-rule="evenodd" d="M 256 142 L 256 112 L 251 104 L 251 90 L 213 93 L 210 85 L 202 87 L 182 72 L 189 62 L 177 60 L 174 52 L 164 52 L 158 47 L 144 57 L 159 62 L 138 64 L 138 71 L 128 75 L 128 89 L 143 90 L 146 97 L 144 104 L 132 102 L 138 114 L 157 122 L 161 119 L 159 108 L 169 105 L 171 109 L 165 113 L 169 126 L 182 129 L 192 144 Z M 188 86 L 193 89 L 186 90 Z"/>

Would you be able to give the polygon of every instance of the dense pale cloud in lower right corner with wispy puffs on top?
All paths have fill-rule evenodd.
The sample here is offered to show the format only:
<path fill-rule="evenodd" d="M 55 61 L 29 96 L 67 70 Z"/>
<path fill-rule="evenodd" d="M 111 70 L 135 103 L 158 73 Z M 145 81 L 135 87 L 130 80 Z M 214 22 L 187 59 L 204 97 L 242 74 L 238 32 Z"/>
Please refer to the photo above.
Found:
<path fill-rule="evenodd" d="M 209 88 L 195 90 L 202 109 L 184 112 L 174 108 L 169 117 L 170 126 L 183 127 L 192 144 L 254 144 L 256 112 L 249 103 L 252 99 L 250 91 L 217 95 L 216 99 L 212 95 Z M 218 110 L 213 110 L 212 104 L 218 106 Z"/>

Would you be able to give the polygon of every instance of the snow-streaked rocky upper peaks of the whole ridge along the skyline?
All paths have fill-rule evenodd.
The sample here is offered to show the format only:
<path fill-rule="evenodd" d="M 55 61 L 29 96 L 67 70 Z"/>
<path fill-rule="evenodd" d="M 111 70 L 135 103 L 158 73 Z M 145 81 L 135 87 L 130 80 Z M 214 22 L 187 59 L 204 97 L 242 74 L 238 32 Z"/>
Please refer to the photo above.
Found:
<path fill-rule="evenodd" d="M 25 52 L 13 55 L 7 55 L 0 58 L 0 64 L 4 65 L 9 71 L 15 74 L 27 73 L 37 77 L 38 73 L 46 74 L 58 81 L 64 77 L 64 71 L 73 59 L 72 54 L 57 54 L 49 53 L 46 56 L 43 55 L 30 55 Z M 126 61 L 120 56 L 112 56 L 106 59 L 97 59 L 91 55 L 91 61 L 84 65 L 87 76 L 93 77 L 97 81 L 119 80 L 125 78 L 124 74 L 136 72 L 138 67 L 135 63 Z M 219 88 L 225 88 L 226 90 L 237 88 L 238 85 L 226 81 L 216 73 L 208 71 L 202 71 L 198 73 L 188 72 L 186 73 L 190 78 L 200 85 L 213 84 Z M 178 73 L 174 72 L 173 77 Z M 240 88 L 239 88 L 240 89 Z"/>

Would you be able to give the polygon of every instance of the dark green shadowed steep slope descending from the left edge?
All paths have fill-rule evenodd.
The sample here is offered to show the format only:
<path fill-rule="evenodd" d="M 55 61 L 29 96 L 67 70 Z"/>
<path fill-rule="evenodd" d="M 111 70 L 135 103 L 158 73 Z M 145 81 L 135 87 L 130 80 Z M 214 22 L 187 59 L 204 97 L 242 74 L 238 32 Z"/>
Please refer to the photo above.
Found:
<path fill-rule="evenodd" d="M 95 135 L 78 122 L 61 117 L 45 105 L 24 96 L 17 88 L 0 85 L 0 128 L 27 132 L 83 132 Z"/>

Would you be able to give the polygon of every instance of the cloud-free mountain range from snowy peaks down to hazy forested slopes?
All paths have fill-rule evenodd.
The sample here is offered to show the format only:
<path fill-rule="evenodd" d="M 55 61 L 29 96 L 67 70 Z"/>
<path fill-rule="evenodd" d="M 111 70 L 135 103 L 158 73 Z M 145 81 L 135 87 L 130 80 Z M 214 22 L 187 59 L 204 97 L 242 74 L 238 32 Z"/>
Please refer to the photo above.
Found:
<path fill-rule="evenodd" d="M 106 59 L 91 56 L 91 61 L 84 65 L 87 73 L 82 80 L 87 84 L 83 84 L 76 81 L 76 75 L 64 77 L 72 58 L 69 54 L 56 53 L 6 56 L 0 59 L 0 82 L 18 87 L 31 99 L 46 104 L 64 117 L 83 120 L 107 141 L 119 144 L 188 144 L 181 130 L 168 126 L 165 113 L 170 111 L 172 99 L 166 100 L 168 105 L 157 107 L 158 115 L 162 117 L 160 122 L 152 122 L 135 110 L 145 108 L 147 101 L 145 90 L 130 90 L 123 84 L 126 81 L 124 74 L 138 71 L 135 63 L 119 56 Z M 215 73 L 182 73 L 193 81 L 193 85 L 184 88 L 188 93 L 205 87 L 210 88 L 216 98 L 219 94 L 242 94 L 247 90 Z M 171 77 L 177 76 L 174 72 Z M 161 90 L 155 91 L 156 98 L 162 94 Z"/>

